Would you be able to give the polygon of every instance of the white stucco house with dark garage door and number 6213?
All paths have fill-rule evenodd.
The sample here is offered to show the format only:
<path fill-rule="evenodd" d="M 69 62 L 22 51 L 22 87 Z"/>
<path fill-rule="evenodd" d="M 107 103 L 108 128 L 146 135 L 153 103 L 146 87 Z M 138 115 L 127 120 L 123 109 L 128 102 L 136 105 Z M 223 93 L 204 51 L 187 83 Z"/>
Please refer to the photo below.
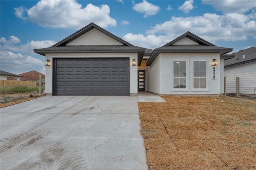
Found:
<path fill-rule="evenodd" d="M 231 51 L 190 32 L 158 49 L 135 47 L 94 23 L 52 47 L 34 49 L 50 63 L 45 91 L 52 96 L 219 95 L 226 58 L 220 55 Z M 214 68 L 213 59 L 219 61 Z"/>

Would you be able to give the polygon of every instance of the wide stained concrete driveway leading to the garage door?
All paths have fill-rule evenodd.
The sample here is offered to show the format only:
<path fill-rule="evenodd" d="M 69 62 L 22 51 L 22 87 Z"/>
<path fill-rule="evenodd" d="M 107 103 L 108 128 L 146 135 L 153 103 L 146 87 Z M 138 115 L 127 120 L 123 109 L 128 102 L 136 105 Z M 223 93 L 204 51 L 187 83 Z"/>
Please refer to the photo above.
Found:
<path fill-rule="evenodd" d="M 0 109 L 0 169 L 146 170 L 137 97 L 46 96 Z"/>

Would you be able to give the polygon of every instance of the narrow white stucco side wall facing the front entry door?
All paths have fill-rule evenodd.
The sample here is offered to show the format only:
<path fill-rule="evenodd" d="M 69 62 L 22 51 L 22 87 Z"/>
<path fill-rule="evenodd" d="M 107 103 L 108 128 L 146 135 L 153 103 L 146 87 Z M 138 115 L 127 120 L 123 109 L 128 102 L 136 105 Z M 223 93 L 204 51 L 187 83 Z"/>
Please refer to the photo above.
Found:
<path fill-rule="evenodd" d="M 148 69 L 148 92 L 160 94 L 160 57 L 157 57 Z"/>

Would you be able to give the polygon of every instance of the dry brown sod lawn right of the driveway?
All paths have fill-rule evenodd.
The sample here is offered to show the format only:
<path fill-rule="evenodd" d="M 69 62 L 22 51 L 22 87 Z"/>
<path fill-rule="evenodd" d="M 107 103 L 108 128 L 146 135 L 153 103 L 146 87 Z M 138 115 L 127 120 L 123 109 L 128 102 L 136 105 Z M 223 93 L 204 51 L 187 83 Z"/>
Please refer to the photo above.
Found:
<path fill-rule="evenodd" d="M 150 170 L 256 169 L 256 101 L 163 98 L 139 103 Z"/>

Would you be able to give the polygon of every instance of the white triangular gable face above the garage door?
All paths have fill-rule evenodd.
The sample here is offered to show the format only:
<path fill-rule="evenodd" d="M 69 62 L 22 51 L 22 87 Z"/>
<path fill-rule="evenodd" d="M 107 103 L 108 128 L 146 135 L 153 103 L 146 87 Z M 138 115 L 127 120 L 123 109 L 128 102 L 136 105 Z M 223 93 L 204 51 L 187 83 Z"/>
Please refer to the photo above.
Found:
<path fill-rule="evenodd" d="M 84 33 L 67 45 L 124 45 L 96 28 Z"/>

